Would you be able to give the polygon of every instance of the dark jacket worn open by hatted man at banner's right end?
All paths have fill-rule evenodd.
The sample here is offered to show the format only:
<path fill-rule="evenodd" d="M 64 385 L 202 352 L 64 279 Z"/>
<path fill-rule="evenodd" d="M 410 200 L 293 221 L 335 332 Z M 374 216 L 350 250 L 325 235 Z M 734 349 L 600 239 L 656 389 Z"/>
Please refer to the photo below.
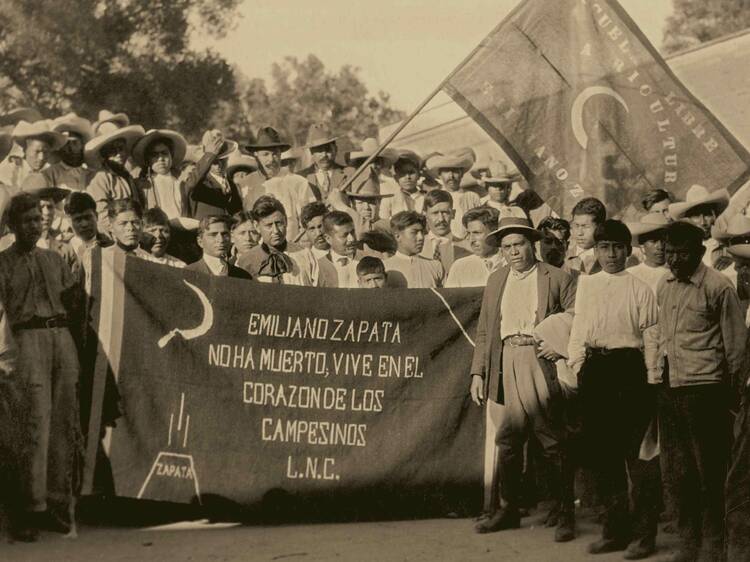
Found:
<path fill-rule="evenodd" d="M 539 262 L 537 265 L 538 324 L 551 314 L 573 312 L 576 283 L 562 269 Z M 503 342 L 500 340 L 500 302 L 510 267 L 495 271 L 487 280 L 482 297 L 482 310 L 477 324 L 476 347 L 471 362 L 471 374 L 484 377 L 485 397 L 503 403 Z M 547 369 L 545 369 L 545 372 Z M 554 376 L 551 374 L 550 376 Z M 551 381 L 548 381 L 551 382 Z"/>

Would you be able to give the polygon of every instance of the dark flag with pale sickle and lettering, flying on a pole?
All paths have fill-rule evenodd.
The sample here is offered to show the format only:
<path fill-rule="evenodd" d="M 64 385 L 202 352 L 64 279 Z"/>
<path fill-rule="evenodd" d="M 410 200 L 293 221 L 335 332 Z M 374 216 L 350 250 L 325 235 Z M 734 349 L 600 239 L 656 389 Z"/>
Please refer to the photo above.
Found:
<path fill-rule="evenodd" d="M 444 89 L 565 215 L 582 197 L 630 215 L 649 189 L 734 192 L 750 175 L 615 0 L 526 0 Z"/>

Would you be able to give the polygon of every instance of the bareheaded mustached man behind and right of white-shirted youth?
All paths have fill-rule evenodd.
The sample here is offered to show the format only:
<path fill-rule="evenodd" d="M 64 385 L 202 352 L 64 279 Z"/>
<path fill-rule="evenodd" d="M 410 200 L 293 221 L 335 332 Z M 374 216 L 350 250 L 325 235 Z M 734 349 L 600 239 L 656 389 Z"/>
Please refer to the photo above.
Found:
<path fill-rule="evenodd" d="M 442 189 L 430 191 L 424 196 L 424 216 L 428 232 L 421 253 L 426 258 L 438 260 L 448 272 L 454 261 L 470 254 L 465 241 L 451 231 L 451 223 L 456 216 L 453 196 Z M 463 224 L 461 227 L 466 231 Z"/>

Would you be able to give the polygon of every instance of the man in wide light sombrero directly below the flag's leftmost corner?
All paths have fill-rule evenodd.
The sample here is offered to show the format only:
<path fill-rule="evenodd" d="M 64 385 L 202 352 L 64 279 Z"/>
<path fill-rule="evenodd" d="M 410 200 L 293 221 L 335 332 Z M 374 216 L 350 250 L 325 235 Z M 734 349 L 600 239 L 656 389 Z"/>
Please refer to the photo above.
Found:
<path fill-rule="evenodd" d="M 474 151 L 461 148 L 448 154 L 435 154 L 425 165 L 431 174 L 440 178 L 443 189 L 453 197 L 453 208 L 456 214 L 451 222 L 453 234 L 460 240 L 466 238 L 466 229 L 462 219 L 464 213 L 481 205 L 479 195 L 461 187 L 461 178 L 474 165 Z"/>

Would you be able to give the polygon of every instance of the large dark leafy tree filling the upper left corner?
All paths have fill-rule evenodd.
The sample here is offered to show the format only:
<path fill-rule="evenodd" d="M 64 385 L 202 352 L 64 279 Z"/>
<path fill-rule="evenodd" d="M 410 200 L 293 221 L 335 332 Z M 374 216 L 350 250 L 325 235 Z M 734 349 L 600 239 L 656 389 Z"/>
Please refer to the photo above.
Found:
<path fill-rule="evenodd" d="M 127 112 L 197 134 L 234 96 L 231 67 L 189 46 L 220 37 L 239 0 L 0 0 L 0 108 Z"/>

